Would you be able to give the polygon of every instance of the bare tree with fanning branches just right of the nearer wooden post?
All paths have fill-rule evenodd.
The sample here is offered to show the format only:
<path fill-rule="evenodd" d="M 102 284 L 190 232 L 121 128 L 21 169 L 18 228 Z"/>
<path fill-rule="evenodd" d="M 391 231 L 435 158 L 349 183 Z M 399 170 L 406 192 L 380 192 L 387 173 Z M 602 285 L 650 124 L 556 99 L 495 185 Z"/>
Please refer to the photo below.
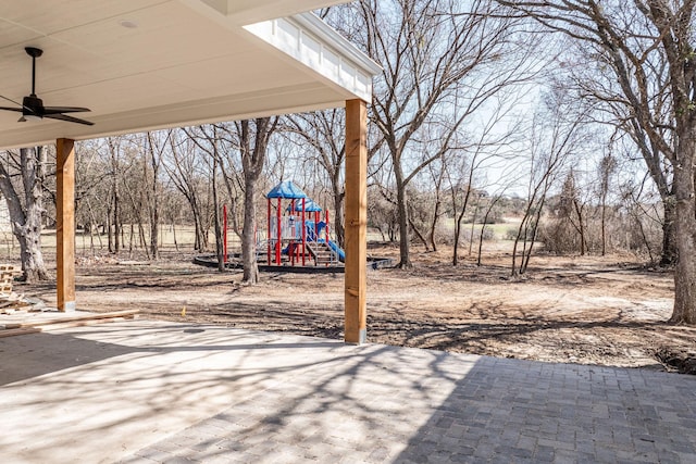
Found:
<path fill-rule="evenodd" d="M 522 64 L 529 48 L 517 40 L 518 20 L 495 17 L 497 7 L 487 1 L 364 0 L 347 8 L 352 9 L 349 21 L 337 26 L 356 26 L 347 34 L 384 66 L 371 118 L 381 133 L 377 143 L 390 156 L 399 265 L 409 267 L 409 183 L 449 149 L 452 134 L 472 112 L 500 88 L 529 77 Z M 452 105 L 456 90 L 463 88 L 471 91 Z M 437 138 L 428 133 L 435 127 Z"/>

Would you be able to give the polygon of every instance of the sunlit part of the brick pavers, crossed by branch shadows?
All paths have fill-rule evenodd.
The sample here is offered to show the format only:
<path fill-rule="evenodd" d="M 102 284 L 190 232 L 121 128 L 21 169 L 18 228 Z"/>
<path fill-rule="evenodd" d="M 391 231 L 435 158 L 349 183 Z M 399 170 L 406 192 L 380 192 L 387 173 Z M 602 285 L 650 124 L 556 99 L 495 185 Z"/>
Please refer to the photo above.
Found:
<path fill-rule="evenodd" d="M 331 355 L 295 355 L 284 368 L 256 372 L 260 384 L 275 381 L 123 462 L 387 462 L 475 359 L 452 362 L 436 351 L 320 340 L 270 344 L 276 347 L 324 354 L 328 348 Z"/>

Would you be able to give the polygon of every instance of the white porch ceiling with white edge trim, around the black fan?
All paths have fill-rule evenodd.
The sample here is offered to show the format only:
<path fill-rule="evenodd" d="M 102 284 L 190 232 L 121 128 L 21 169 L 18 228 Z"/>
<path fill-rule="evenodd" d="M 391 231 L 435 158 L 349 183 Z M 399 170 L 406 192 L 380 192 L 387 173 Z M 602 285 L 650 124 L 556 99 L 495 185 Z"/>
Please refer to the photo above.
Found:
<path fill-rule="evenodd" d="M 337 0 L 0 0 L 0 95 L 87 106 L 95 123 L 18 123 L 0 148 L 341 106 L 369 99 L 377 68 L 300 11 Z M 137 27 L 124 27 L 130 22 Z M 251 24 L 256 23 L 256 24 Z M 12 103 L 0 101 L 2 106 Z"/>

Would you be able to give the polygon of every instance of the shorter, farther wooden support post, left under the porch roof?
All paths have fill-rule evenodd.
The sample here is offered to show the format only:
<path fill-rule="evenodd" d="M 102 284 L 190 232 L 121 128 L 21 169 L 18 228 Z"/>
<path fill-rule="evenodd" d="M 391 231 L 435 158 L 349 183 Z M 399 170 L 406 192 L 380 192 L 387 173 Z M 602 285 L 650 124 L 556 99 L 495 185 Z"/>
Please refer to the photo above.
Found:
<path fill-rule="evenodd" d="M 58 309 L 75 311 L 75 141 L 55 141 Z"/>

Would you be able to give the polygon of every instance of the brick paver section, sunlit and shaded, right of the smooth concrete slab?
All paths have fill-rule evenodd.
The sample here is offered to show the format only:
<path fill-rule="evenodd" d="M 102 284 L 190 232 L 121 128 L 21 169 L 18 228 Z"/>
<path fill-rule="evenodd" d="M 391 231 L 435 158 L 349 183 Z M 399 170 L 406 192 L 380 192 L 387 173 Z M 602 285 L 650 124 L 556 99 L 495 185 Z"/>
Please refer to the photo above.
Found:
<path fill-rule="evenodd" d="M 696 463 L 696 378 L 368 346 L 128 463 Z"/>

